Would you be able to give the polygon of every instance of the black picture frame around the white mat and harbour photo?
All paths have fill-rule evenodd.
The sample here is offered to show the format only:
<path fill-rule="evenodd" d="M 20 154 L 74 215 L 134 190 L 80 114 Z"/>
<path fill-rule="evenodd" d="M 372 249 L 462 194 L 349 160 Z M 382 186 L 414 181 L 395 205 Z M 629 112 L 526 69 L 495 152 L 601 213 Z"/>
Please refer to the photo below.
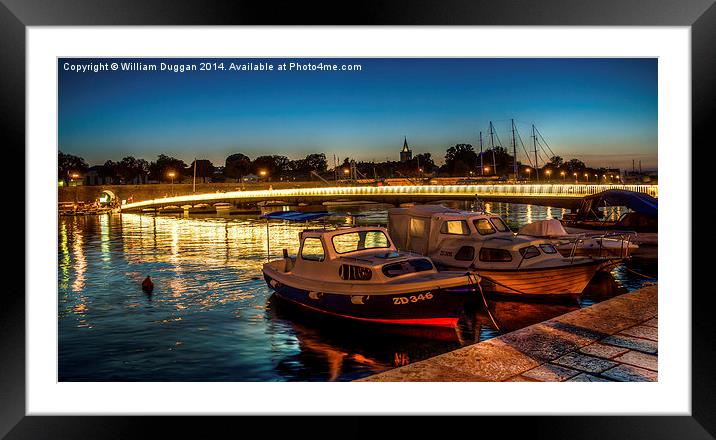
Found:
<path fill-rule="evenodd" d="M 207 2 L 195 0 L 0 0 L 0 139 L 6 163 L 13 164 L 6 180 L 5 202 L 24 212 L 25 192 L 18 186 L 25 173 L 25 38 L 27 26 L 112 25 L 557 25 L 557 26 L 690 26 L 692 33 L 692 154 L 713 143 L 716 103 L 716 6 L 714 0 L 500 0 L 364 1 L 318 4 L 312 2 Z M 49 99 L 49 98 L 48 98 Z M 48 100 L 49 103 L 49 100 Z M 662 146 L 663 147 L 663 146 Z M 668 146 L 667 146 L 668 147 Z M 9 155 L 9 157 L 8 157 Z M 707 161 L 697 161 L 708 166 Z M 22 164 L 20 166 L 19 164 Z M 704 175 L 690 170 L 688 176 Z M 692 180 L 693 181 L 693 180 Z M 24 183 L 23 190 L 24 190 Z M 695 190 L 695 186 L 691 185 Z M 697 199 L 692 195 L 692 200 Z M 22 210 L 19 207 L 23 207 Z M 436 421 L 429 417 L 386 420 L 375 417 L 119 417 L 26 416 L 25 407 L 25 266 L 24 221 L 10 218 L 3 233 L 8 252 L 4 272 L 6 290 L 0 302 L 0 437 L 26 438 L 134 438 L 187 434 L 202 429 L 202 437 L 240 435 L 255 425 L 270 437 L 300 435 L 310 430 L 320 437 L 380 435 L 425 437 L 437 430 L 448 435 L 529 435 L 549 438 L 709 439 L 716 433 L 716 344 L 711 337 L 714 320 L 710 289 L 692 287 L 691 416 L 554 416 L 461 417 Z M 23 234 L 18 233 L 22 229 Z M 691 241 L 691 237 L 687 237 Z M 9 240 L 9 241 L 8 241 Z M 22 250 L 21 250 L 22 249 Z M 8 254 L 6 254 L 8 255 Z M 695 254 L 692 253 L 692 257 Z M 693 261 L 693 259 L 692 259 Z M 14 267 L 11 267 L 14 266 Z M 21 266 L 21 267 L 20 267 Z M 695 273 L 698 274 L 698 273 Z M 688 293 L 691 274 L 683 274 Z M 10 283 L 7 283 L 10 281 Z M 693 279 L 696 281 L 696 279 Z M 668 299 L 668 298 L 667 298 Z M 663 330 L 662 330 L 663 331 Z M 240 399 L 237 396 L 237 399 Z M 347 398 L 349 398 L 347 396 Z M 477 397 L 476 397 L 477 398 Z M 480 398 L 489 398 L 483 396 Z M 399 399 L 396 400 L 399 405 Z M 398 409 L 399 410 L 399 409 Z M 605 408 L 608 411 L 608 408 Z M 380 423 L 382 426 L 376 428 Z M 387 423 L 386 423 L 387 422 Z M 330 425 L 330 427 L 329 427 Z M 462 432 L 461 432 L 461 431 Z M 248 432 L 248 431 L 247 431 Z M 501 433 L 501 434 L 495 434 Z"/>

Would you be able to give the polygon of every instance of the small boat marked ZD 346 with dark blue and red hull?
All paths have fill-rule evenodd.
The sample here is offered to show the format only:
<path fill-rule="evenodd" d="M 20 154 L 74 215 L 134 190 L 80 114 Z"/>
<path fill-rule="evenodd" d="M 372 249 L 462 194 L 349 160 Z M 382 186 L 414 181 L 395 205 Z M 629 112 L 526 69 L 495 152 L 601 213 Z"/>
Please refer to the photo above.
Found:
<path fill-rule="evenodd" d="M 274 217 L 275 218 L 275 217 Z M 390 325 L 455 327 L 477 275 L 438 272 L 400 252 L 382 227 L 305 230 L 294 257 L 264 264 L 276 295 L 335 317 Z"/>

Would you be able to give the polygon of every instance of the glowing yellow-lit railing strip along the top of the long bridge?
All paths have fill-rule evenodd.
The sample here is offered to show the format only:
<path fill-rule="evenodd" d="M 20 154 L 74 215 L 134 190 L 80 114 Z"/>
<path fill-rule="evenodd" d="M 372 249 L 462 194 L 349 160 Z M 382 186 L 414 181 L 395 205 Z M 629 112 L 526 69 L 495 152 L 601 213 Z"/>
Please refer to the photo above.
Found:
<path fill-rule="evenodd" d="M 608 189 L 625 189 L 658 197 L 657 185 L 416 185 L 416 186 L 343 186 L 322 188 L 289 188 L 277 190 L 231 191 L 224 193 L 190 194 L 144 200 L 122 206 L 123 210 L 150 208 L 158 205 L 195 203 L 210 200 L 281 200 L 282 198 L 404 196 L 514 196 L 514 197 L 583 197 Z"/>

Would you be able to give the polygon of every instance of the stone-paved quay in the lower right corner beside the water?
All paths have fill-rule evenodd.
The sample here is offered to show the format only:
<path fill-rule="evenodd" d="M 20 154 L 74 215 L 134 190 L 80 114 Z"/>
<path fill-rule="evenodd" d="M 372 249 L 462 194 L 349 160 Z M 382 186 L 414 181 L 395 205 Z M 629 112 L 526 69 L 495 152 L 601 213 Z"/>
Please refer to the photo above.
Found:
<path fill-rule="evenodd" d="M 358 382 L 656 381 L 658 286 Z"/>

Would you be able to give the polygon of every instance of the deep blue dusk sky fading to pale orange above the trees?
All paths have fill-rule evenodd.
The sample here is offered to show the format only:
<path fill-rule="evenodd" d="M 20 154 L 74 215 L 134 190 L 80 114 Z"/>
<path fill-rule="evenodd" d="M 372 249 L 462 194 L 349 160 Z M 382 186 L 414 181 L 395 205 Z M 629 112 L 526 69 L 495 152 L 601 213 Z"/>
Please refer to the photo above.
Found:
<path fill-rule="evenodd" d="M 198 65 L 224 71 L 65 70 L 117 62 Z M 229 71 L 268 62 L 273 71 Z M 277 71 L 290 62 L 360 64 L 360 71 Z M 90 165 L 163 153 L 224 165 L 233 153 L 296 159 L 398 160 L 470 143 L 489 147 L 493 121 L 510 145 L 514 118 L 531 147 L 531 124 L 555 154 L 589 166 L 657 167 L 656 59 L 60 59 L 59 148 Z M 523 151 L 518 159 L 527 163 Z M 541 165 L 541 164 L 540 164 Z"/>

